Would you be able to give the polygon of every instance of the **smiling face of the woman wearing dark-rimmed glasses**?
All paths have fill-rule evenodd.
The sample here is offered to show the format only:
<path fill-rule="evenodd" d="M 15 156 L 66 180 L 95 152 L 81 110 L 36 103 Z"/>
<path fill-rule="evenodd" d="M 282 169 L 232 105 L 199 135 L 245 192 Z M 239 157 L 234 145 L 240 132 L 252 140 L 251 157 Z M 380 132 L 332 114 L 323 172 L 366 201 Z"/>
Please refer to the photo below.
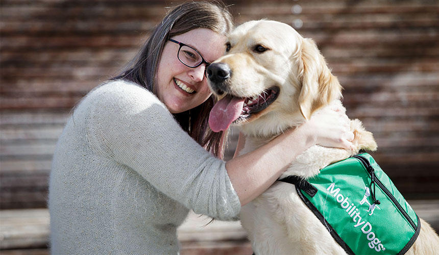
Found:
<path fill-rule="evenodd" d="M 209 63 L 221 57 L 225 50 L 226 37 L 210 29 L 193 29 L 171 39 L 197 49 Z M 171 41 L 165 43 L 156 76 L 157 96 L 171 113 L 197 107 L 211 94 L 204 76 L 206 64 L 196 68 L 185 66 L 177 58 L 179 47 Z"/>

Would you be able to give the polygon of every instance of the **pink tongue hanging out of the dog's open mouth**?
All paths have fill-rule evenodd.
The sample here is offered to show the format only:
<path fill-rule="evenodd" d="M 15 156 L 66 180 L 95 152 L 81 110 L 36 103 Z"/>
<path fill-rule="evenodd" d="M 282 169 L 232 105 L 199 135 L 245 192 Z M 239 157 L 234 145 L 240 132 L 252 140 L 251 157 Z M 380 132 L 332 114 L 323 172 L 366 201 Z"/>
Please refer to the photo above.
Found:
<path fill-rule="evenodd" d="M 227 130 L 242 112 L 245 98 L 226 96 L 217 101 L 209 115 L 209 126 L 213 132 Z"/>

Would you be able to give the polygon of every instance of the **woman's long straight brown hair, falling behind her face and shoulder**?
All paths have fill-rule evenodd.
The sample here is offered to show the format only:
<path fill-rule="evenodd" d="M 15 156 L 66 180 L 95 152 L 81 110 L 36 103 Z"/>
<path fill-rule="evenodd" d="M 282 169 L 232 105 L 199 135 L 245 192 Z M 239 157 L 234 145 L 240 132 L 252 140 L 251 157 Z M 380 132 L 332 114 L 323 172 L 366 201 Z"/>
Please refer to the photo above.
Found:
<path fill-rule="evenodd" d="M 156 94 L 157 66 L 164 44 L 170 37 L 184 34 L 192 29 L 206 28 L 227 35 L 233 28 L 232 17 L 220 1 L 200 1 L 181 4 L 170 10 L 157 25 L 139 54 L 130 62 L 126 71 L 114 79 L 137 83 Z M 222 158 L 224 152 L 223 132 L 214 133 L 209 128 L 208 116 L 214 104 L 210 96 L 203 104 L 188 111 L 174 114 L 176 120 L 201 146 Z"/>

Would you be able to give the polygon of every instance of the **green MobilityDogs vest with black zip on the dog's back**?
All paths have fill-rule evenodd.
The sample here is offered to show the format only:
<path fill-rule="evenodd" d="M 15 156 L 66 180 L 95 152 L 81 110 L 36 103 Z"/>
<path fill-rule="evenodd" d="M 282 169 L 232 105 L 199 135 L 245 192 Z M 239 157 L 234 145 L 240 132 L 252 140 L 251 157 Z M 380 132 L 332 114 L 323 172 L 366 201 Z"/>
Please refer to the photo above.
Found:
<path fill-rule="evenodd" d="M 419 217 L 364 153 L 323 168 L 311 179 L 288 176 L 306 206 L 349 254 L 404 254 L 421 230 Z"/>

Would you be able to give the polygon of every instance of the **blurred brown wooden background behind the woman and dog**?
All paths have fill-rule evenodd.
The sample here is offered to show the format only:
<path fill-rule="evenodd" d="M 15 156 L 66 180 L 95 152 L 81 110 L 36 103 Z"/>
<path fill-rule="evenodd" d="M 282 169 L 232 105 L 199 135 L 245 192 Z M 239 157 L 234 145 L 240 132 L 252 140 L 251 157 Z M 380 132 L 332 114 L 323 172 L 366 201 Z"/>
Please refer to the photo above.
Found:
<path fill-rule="evenodd" d="M 168 7 L 158 0 L 0 0 L 2 254 L 47 254 L 47 180 L 71 108 L 134 57 Z M 351 118 L 418 215 L 439 228 L 439 2 L 225 1 L 240 24 L 274 19 L 311 37 Z M 232 134 L 228 157 L 234 149 Z M 237 222 L 191 215 L 182 254 L 251 254 Z"/>

